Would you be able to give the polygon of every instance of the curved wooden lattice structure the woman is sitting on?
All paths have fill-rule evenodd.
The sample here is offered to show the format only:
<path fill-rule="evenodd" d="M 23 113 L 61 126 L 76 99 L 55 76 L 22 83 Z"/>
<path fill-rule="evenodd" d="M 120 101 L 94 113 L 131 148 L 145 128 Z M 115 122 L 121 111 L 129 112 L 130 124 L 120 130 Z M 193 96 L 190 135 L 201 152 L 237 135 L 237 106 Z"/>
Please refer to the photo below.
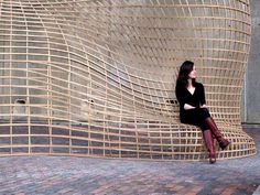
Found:
<path fill-rule="evenodd" d="M 2 0 L 0 155 L 201 160 L 201 130 L 180 123 L 175 78 L 195 62 L 232 144 L 250 45 L 249 0 Z"/>

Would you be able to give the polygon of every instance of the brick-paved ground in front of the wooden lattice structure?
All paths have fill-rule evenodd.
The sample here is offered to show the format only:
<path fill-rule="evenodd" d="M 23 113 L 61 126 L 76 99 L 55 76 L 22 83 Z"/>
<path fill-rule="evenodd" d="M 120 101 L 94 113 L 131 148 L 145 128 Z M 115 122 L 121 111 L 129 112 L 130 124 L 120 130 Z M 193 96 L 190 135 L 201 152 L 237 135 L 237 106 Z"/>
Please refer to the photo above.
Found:
<path fill-rule="evenodd" d="M 260 130 L 247 131 L 260 151 Z M 260 154 L 207 162 L 148 162 L 72 156 L 0 158 L 0 194 L 251 195 Z"/>

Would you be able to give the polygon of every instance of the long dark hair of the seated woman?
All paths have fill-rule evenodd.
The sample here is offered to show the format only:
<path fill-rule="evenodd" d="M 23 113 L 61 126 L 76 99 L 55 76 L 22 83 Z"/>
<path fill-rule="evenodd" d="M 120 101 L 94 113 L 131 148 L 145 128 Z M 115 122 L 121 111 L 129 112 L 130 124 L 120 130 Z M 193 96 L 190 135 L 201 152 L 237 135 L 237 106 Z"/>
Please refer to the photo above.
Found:
<path fill-rule="evenodd" d="M 191 61 L 185 61 L 182 64 L 182 66 L 180 67 L 180 71 L 178 71 L 176 86 L 187 87 L 187 84 L 188 84 L 187 79 L 189 78 L 188 74 L 193 71 L 193 67 L 194 67 L 194 63 Z M 192 82 L 193 82 L 193 86 L 194 86 L 196 83 L 196 79 L 193 78 Z"/>

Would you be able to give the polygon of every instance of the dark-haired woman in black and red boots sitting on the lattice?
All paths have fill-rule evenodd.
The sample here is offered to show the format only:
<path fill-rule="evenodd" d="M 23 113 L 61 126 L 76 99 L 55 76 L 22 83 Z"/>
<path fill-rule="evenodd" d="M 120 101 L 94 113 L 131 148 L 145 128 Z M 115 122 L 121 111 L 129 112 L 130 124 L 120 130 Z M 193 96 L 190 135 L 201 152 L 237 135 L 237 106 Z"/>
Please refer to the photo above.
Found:
<path fill-rule="evenodd" d="M 209 163 L 216 162 L 213 136 L 224 150 L 230 143 L 226 140 L 206 107 L 204 86 L 196 82 L 194 63 L 185 61 L 178 72 L 176 98 L 180 102 L 180 119 L 183 123 L 198 126 L 203 131 L 205 145 L 208 150 Z"/>

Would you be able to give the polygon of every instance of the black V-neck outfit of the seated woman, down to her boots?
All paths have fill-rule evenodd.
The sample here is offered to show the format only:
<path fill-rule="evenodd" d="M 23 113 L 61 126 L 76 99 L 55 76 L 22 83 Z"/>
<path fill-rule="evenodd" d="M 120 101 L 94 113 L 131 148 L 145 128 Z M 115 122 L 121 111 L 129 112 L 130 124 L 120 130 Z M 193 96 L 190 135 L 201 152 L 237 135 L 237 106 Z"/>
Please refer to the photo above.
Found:
<path fill-rule="evenodd" d="M 205 119 L 210 115 L 206 108 L 201 108 L 206 104 L 204 86 L 196 82 L 194 87 L 194 94 L 191 94 L 186 87 L 176 85 L 175 95 L 180 102 L 180 119 L 183 123 L 199 126 L 202 130 L 206 130 Z M 195 107 L 195 109 L 185 110 L 185 104 Z"/>

